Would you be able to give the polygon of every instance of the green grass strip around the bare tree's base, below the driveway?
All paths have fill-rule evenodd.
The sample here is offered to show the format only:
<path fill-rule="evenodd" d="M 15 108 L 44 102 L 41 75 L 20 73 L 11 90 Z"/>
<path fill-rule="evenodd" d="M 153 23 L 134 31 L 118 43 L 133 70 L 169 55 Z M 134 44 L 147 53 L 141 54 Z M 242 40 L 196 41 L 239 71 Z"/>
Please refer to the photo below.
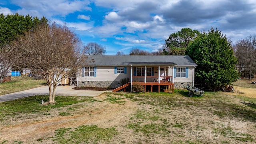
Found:
<path fill-rule="evenodd" d="M 0 103 L 0 121 L 7 119 L 9 116 L 19 114 L 38 114 L 49 115 L 46 113 L 52 108 L 62 108 L 78 102 L 94 102 L 93 97 L 79 96 L 56 96 L 56 103 L 43 106 L 41 100 L 48 101 L 49 96 L 30 96 Z M 62 115 L 62 114 L 60 114 Z"/>

